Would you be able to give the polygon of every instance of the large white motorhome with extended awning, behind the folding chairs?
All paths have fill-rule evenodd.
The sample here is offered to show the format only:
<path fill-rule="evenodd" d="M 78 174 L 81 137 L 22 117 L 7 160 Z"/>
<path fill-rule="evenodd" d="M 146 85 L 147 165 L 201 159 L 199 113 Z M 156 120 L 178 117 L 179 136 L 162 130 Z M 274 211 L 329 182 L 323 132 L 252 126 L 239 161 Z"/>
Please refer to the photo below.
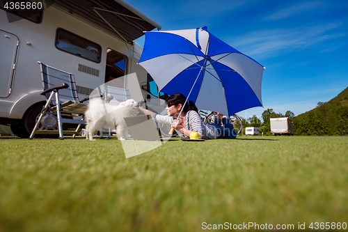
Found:
<path fill-rule="evenodd" d="M 161 26 L 122 0 L 56 0 L 30 16 L 0 5 L 0 124 L 29 137 L 45 103 L 37 61 L 73 73 L 80 99 L 133 72 L 146 84 L 148 73 L 137 64 L 142 48 L 133 40 L 155 28 Z M 116 87 L 129 88 L 127 79 Z"/>

